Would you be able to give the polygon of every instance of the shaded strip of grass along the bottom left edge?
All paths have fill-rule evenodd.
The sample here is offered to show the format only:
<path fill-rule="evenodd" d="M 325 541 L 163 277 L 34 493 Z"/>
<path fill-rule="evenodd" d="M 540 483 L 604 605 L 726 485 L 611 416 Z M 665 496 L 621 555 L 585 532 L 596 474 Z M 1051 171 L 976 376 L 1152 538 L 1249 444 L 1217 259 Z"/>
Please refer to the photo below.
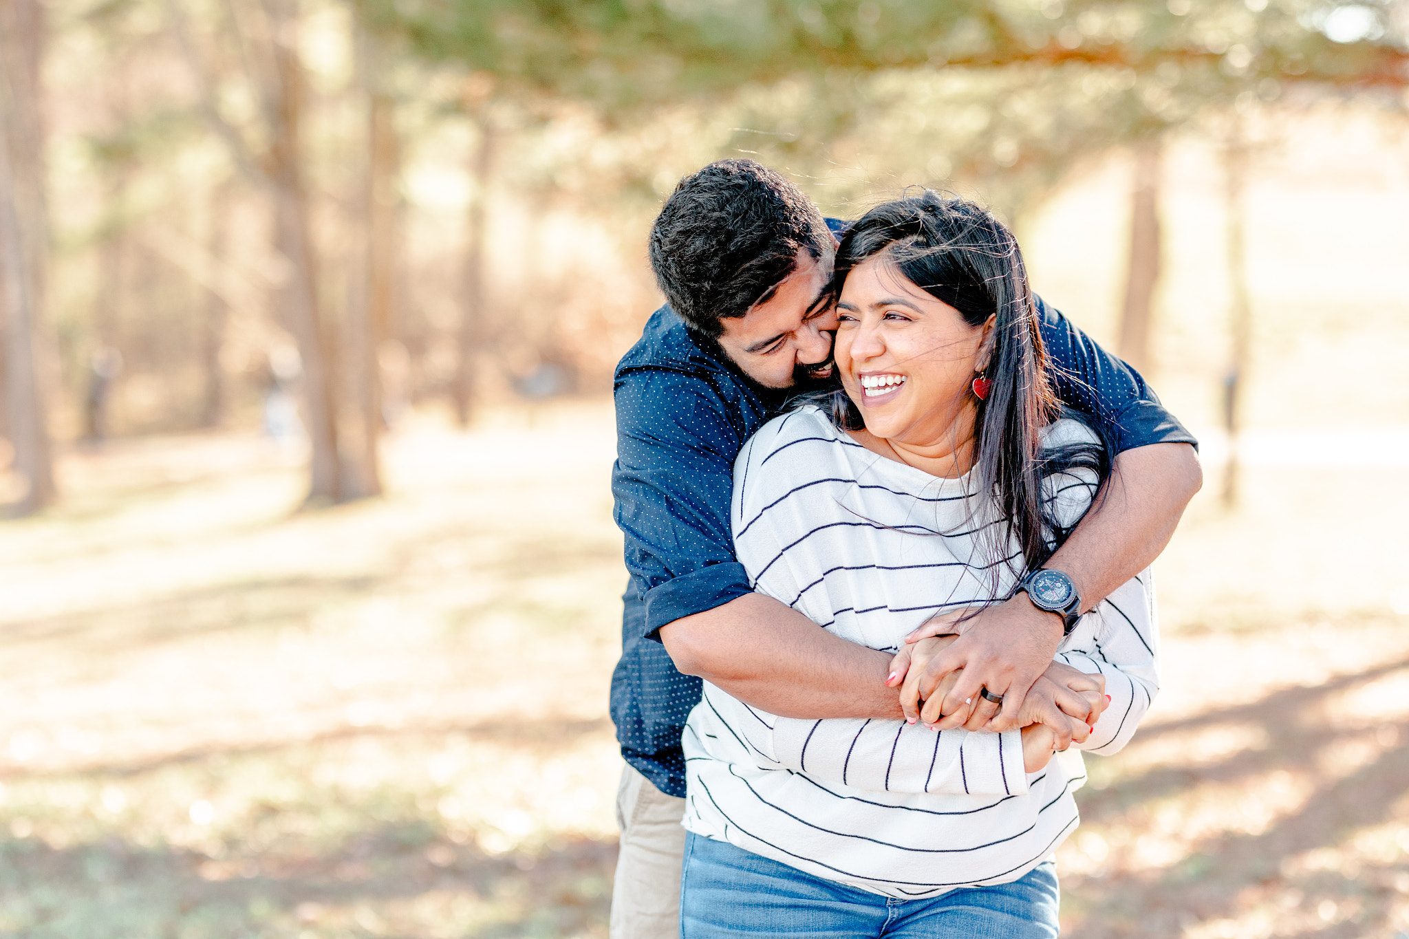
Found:
<path fill-rule="evenodd" d="M 417 819 L 300 857 L 13 839 L 0 840 L 0 922 L 45 939 L 581 935 L 604 932 L 614 863 L 612 842 L 495 856 Z"/>

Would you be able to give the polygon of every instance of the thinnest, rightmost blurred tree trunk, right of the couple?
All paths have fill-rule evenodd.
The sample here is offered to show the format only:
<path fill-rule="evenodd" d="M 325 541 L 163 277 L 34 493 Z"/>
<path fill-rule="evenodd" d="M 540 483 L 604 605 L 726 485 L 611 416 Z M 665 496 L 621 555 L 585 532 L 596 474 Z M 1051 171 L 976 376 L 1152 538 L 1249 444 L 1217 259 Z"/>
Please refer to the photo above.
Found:
<path fill-rule="evenodd" d="M 1223 472 L 1223 505 L 1233 508 L 1239 500 L 1239 434 L 1243 429 L 1243 389 L 1247 386 L 1248 356 L 1253 345 L 1253 307 L 1247 289 L 1247 242 L 1243 218 L 1243 187 L 1247 179 L 1247 145 L 1243 118 L 1233 115 L 1233 127 L 1223 151 L 1224 203 L 1227 211 L 1226 251 L 1229 266 L 1229 369 L 1223 379 L 1223 428 L 1227 431 L 1229 455 Z"/>

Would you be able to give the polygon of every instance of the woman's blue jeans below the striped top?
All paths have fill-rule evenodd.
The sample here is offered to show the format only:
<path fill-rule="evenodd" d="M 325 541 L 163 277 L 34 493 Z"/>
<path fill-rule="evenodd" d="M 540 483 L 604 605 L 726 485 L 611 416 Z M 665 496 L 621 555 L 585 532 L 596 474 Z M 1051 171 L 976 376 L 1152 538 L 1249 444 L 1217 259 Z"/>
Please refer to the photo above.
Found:
<path fill-rule="evenodd" d="M 1051 862 L 1010 884 L 892 900 L 690 833 L 681 938 L 1055 939 L 1058 898 Z"/>

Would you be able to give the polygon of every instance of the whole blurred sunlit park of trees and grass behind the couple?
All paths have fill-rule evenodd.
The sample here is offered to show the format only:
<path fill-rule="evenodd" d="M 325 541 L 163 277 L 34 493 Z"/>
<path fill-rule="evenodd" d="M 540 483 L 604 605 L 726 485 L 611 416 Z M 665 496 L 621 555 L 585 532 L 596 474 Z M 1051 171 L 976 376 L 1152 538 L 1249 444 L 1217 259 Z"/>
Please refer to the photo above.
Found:
<path fill-rule="evenodd" d="M 1403 0 L 0 0 L 0 935 L 604 936 L 645 232 L 985 201 L 1206 484 L 1082 938 L 1409 936 Z"/>

